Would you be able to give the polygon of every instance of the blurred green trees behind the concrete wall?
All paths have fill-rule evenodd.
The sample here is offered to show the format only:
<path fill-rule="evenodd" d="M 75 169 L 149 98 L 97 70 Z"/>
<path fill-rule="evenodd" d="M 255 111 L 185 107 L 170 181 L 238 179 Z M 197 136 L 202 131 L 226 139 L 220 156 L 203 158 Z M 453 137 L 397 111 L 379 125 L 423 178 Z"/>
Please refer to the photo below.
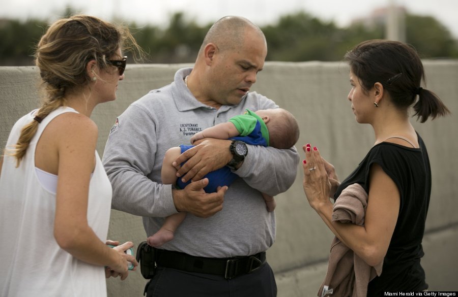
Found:
<path fill-rule="evenodd" d="M 67 9 L 65 15 L 74 12 Z M 0 20 L 0 65 L 32 65 L 33 52 L 47 26 L 43 20 Z M 128 25 L 137 43 L 150 54 L 150 63 L 192 63 L 211 24 L 199 26 L 180 12 L 168 26 Z M 383 25 L 354 24 L 339 28 L 306 12 L 282 16 L 262 27 L 268 43 L 267 60 L 336 61 L 356 44 L 384 38 Z M 458 58 L 458 43 L 449 30 L 430 16 L 406 15 L 406 42 L 424 58 Z"/>

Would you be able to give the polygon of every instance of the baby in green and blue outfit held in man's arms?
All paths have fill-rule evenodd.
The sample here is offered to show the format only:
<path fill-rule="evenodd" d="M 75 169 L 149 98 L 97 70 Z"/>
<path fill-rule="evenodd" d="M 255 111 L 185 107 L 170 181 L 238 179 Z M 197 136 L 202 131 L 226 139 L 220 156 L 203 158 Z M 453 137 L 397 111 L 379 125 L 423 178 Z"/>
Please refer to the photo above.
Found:
<path fill-rule="evenodd" d="M 191 137 L 191 144 L 204 138 L 240 140 L 250 145 L 271 146 L 277 149 L 289 149 L 299 139 L 299 126 L 296 118 L 281 108 L 265 109 L 232 117 L 228 122 L 204 129 Z M 190 181 L 183 183 L 177 178 L 177 170 L 171 164 L 184 151 L 193 147 L 181 145 L 167 150 L 162 162 L 161 178 L 163 184 L 174 184 L 184 188 Z M 238 176 L 227 166 L 210 172 L 205 176 L 209 184 L 204 188 L 207 193 L 216 192 L 219 186 L 230 185 Z M 262 193 L 267 211 L 275 209 L 273 196 Z M 161 246 L 172 240 L 178 226 L 185 219 L 186 212 L 168 216 L 162 227 L 148 238 L 150 246 Z"/>

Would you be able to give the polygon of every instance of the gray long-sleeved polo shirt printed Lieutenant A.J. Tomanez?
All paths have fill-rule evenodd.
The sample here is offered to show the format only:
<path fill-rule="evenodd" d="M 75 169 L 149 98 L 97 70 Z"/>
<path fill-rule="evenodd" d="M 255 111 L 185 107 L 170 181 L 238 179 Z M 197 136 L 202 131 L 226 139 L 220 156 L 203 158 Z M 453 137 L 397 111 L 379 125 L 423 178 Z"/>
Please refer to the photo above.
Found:
<path fill-rule="evenodd" d="M 196 100 L 180 69 L 175 81 L 132 103 L 111 129 L 103 154 L 113 187 L 112 208 L 142 216 L 147 236 L 177 213 L 170 185 L 161 184 L 164 154 L 189 144 L 197 131 L 226 122 L 245 109 L 277 108 L 267 97 L 249 92 L 235 106 L 209 107 Z M 248 146 L 248 155 L 224 195 L 223 209 L 210 218 L 187 214 L 174 240 L 161 248 L 203 257 L 232 257 L 267 250 L 275 240 L 275 213 L 267 212 L 261 192 L 277 195 L 294 182 L 296 148 Z M 146 238 L 145 238 L 146 240 Z"/>

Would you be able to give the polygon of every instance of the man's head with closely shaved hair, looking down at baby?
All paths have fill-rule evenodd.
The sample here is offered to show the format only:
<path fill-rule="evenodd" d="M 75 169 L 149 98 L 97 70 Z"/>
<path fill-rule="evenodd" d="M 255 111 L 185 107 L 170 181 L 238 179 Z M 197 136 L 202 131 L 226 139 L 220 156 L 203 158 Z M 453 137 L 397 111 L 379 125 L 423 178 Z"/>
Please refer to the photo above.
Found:
<path fill-rule="evenodd" d="M 258 26 L 242 17 L 223 17 L 205 36 L 187 86 L 206 105 L 237 105 L 256 82 L 266 56 L 266 38 Z"/>

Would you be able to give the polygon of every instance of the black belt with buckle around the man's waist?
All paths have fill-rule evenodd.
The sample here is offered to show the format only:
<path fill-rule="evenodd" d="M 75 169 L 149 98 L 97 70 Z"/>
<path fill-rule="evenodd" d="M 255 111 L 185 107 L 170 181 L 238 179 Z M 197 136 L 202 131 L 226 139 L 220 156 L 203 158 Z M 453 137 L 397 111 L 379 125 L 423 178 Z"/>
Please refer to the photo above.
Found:
<path fill-rule="evenodd" d="M 259 269 L 266 262 L 266 252 L 246 257 L 205 258 L 155 248 L 156 264 L 188 272 L 207 273 L 232 279 Z"/>

